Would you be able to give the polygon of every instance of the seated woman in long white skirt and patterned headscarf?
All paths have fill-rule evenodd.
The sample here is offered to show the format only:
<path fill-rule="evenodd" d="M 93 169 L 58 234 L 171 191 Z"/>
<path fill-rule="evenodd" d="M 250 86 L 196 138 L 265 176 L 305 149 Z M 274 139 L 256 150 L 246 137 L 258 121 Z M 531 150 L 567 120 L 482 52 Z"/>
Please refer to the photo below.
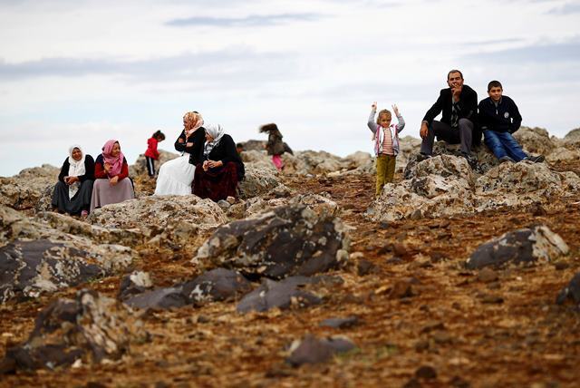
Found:
<path fill-rule="evenodd" d="M 183 131 L 175 141 L 175 149 L 181 152 L 181 156 L 161 165 L 155 187 L 156 195 L 191 194 L 195 166 L 205 141 L 206 132 L 202 125 L 203 118 L 198 112 L 187 112 L 183 116 Z"/>

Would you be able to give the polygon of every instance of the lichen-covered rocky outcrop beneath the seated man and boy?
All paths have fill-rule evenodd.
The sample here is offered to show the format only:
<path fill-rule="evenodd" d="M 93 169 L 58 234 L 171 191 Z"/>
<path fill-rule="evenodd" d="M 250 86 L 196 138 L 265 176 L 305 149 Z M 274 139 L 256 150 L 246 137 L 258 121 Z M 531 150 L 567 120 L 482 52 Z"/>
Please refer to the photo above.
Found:
<path fill-rule="evenodd" d="M 478 175 L 465 159 L 443 154 L 410 162 L 405 179 L 387 184 L 367 216 L 391 221 L 517 209 L 546 203 L 552 195 L 565 197 L 578 191 L 580 178 L 574 172 L 555 172 L 545 163 L 496 164 Z"/>

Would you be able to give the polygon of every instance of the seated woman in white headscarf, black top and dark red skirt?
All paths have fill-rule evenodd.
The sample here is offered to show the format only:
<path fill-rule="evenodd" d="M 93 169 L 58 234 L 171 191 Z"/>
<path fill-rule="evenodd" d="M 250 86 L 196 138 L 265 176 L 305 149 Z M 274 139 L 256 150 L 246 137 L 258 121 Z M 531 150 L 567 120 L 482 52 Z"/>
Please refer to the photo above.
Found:
<path fill-rule="evenodd" d="M 236 143 L 220 125 L 206 127 L 206 144 L 193 180 L 193 193 L 214 201 L 237 197 L 237 182 L 244 179 L 244 163 Z"/>

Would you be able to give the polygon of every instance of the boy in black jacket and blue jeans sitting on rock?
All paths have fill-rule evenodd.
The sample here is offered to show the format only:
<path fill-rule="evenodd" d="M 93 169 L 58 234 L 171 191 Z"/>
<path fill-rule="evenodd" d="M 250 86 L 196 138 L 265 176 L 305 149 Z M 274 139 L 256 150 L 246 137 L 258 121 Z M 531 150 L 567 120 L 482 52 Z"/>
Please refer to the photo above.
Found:
<path fill-rule="evenodd" d="M 516 102 L 502 93 L 503 88 L 499 81 L 489 82 L 489 97 L 479 102 L 478 123 L 488 149 L 501 163 L 505 161 L 513 163 L 520 160 L 544 161 L 545 158 L 542 155 L 528 156 L 511 135 L 519 129 L 522 116 L 517 110 Z"/>

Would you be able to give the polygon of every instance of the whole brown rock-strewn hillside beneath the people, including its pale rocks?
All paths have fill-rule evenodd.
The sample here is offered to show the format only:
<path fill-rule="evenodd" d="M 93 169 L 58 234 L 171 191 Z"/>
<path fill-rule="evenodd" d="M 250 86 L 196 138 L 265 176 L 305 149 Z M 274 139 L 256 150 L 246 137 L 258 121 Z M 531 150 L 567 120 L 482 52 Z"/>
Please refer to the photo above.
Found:
<path fill-rule="evenodd" d="M 542 141 L 542 131 L 524 131 L 525 139 L 520 141 L 527 150 L 545 153 L 549 163 L 536 167 L 489 162 L 486 171 L 475 175 L 466 170 L 469 166 L 463 160 L 452 156 L 452 150 L 451 156 L 421 162 L 417 168 L 402 155 L 400 167 L 409 164 L 413 170 L 406 174 L 399 170 L 396 184 L 387 186 L 389 190 L 377 201 L 370 157 L 359 154 L 347 161 L 324 157 L 323 164 L 314 152 L 286 159 L 285 174 L 271 171 L 272 178 L 258 172 L 270 168 L 267 159 L 248 151 L 246 158 L 254 159 L 247 163 L 254 172 L 244 188 L 247 195 L 234 205 L 206 203 L 193 196 L 150 203 L 154 181 L 139 173 L 134 175 L 138 206 L 101 209 L 87 222 L 43 213 L 39 205 L 45 195 L 42 185 L 34 191 L 38 197 L 34 200 L 28 191 L 18 191 L 19 197 L 5 195 L 2 249 L 24 252 L 24 245 L 15 247 L 24 244 L 17 241 L 46 238 L 103 253 L 79 255 L 102 271 L 98 276 L 92 272 L 79 284 L 64 277 L 57 284 L 54 276 L 38 276 L 44 282 L 51 279 L 50 289 L 42 288 L 39 280 L 22 290 L 13 285 L 8 292 L 0 287 L 5 292 L 0 305 L 0 357 L 5 357 L 0 364 L 0 385 L 577 386 L 580 288 L 570 285 L 568 301 L 563 297 L 563 303 L 556 304 L 556 296 L 580 271 L 576 135 L 567 143 L 553 140 L 550 145 Z M 416 144 L 410 141 L 409 150 L 413 147 Z M 550 153 L 554 150 L 573 154 L 556 158 Z M 430 166 L 449 173 L 433 178 Z M 457 179 L 449 178 L 454 176 Z M 519 189 L 502 186 L 509 177 L 526 183 Z M 490 184 L 489 179 L 500 183 Z M 6 180 L 3 186 L 17 187 L 16 180 Z M 407 195 L 407 201 L 416 200 L 413 206 L 419 212 L 393 202 L 395 188 L 402 187 L 409 192 L 401 195 Z M 490 193 L 505 200 L 492 202 Z M 469 200 L 458 201 L 458 196 Z M 443 211 L 441 203 L 449 209 Z M 313 211 L 297 220 L 264 216 L 265 210 L 281 209 L 276 206 L 295 205 Z M 195 214 L 182 214 L 182 208 L 195 209 Z M 444 215 L 433 218 L 432 211 Z M 165 214 L 172 219 L 164 218 Z M 111 221 L 117 218 L 121 221 Z M 237 290 L 223 297 L 195 297 L 195 292 L 189 292 L 191 279 L 227 261 L 220 261 L 216 254 L 208 263 L 209 254 L 198 252 L 205 242 L 226 233 L 220 229 L 223 225 L 230 223 L 227 228 L 253 236 L 256 230 L 280 228 L 275 223 L 280 219 L 290 219 L 284 228 L 301 240 L 315 233 L 324 232 L 329 239 L 332 235 L 340 243 L 332 251 L 337 262 L 333 257 L 324 261 L 324 254 L 308 256 L 324 262 L 288 269 L 288 276 L 303 276 L 297 286 L 290 286 L 295 294 L 288 303 L 267 311 L 242 312 L 240 306 L 252 302 L 247 299 L 249 289 L 260 284 L 265 290 L 275 289 L 277 284 L 265 282 L 263 274 L 274 279 L 286 276 L 272 275 L 279 273 L 280 263 L 263 257 L 260 249 L 252 252 L 252 244 L 262 247 L 266 240 L 267 244 L 278 241 L 281 245 L 276 246 L 275 257 L 294 249 L 292 238 L 288 242 L 283 232 L 266 238 L 258 235 L 252 244 L 247 238 L 224 256 L 239 256 L 229 264 L 246 274 L 250 286 L 239 283 Z M 516 236 L 517 230 L 538 230 L 539 226 L 559 238 L 551 234 L 525 238 L 537 243 L 528 253 L 527 242 L 501 251 L 501 257 L 512 255 L 524 263 L 468 269 L 466 261 L 481 252 L 478 247 L 505 233 Z M 312 244 L 329 247 L 325 240 L 317 238 Z M 264 251 L 274 243 L 267 244 Z M 131 248 L 131 264 L 126 264 L 126 251 L 113 250 L 118 245 Z M 324 247 L 314 250 L 325 252 Z M 27 249 L 29 257 L 38 257 L 37 246 Z M 51 249 L 43 257 L 59 248 Z M 206 250 L 211 253 L 212 249 Z M 348 259 L 338 260 L 344 249 L 349 251 Z M 115 266 L 105 266 L 103 256 L 116 257 Z M 259 260 L 258 264 L 253 260 Z M 313 271 L 312 266 L 318 269 Z M 133 270 L 148 273 L 150 281 L 121 285 Z M 304 280 L 314 273 L 322 280 Z M 6 283 L 7 276 L 0 276 Z M 143 302 L 139 297 L 151 295 L 147 294 L 151 283 L 158 290 L 156 297 L 162 294 L 162 298 L 151 296 Z M 92 291 L 82 291 L 87 289 Z M 125 307 L 139 303 L 156 306 Z M 343 320 L 325 322 L 331 318 Z M 70 359 L 64 360 L 63 354 Z M 31 361 L 24 367 L 23 360 L 44 361 L 40 365 Z"/>

